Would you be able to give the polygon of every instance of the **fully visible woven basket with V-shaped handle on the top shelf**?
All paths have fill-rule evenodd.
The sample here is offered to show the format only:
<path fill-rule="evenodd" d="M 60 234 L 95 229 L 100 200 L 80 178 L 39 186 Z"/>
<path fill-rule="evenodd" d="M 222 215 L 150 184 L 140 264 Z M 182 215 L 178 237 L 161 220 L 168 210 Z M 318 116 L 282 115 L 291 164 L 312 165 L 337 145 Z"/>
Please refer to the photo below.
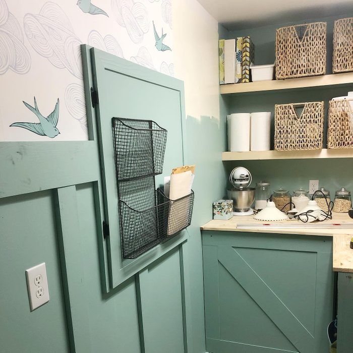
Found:
<path fill-rule="evenodd" d="M 276 80 L 326 74 L 326 22 L 276 30 Z"/>

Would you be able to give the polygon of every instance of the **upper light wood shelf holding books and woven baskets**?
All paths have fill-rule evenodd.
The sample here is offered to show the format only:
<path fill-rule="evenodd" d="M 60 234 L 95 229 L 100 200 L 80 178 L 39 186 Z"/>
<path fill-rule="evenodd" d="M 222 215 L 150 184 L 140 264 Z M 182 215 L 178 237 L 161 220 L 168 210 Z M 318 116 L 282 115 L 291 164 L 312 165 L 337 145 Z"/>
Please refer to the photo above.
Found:
<path fill-rule="evenodd" d="M 221 94 L 277 91 L 296 88 L 353 84 L 353 73 L 220 85 Z"/>

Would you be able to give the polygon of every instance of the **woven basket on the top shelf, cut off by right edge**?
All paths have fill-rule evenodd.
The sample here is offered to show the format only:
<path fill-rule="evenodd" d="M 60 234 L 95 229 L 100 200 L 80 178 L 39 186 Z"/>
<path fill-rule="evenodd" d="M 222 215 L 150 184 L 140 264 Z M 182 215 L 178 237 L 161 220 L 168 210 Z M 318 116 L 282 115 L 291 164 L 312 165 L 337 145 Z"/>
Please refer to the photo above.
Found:
<path fill-rule="evenodd" d="M 332 72 L 353 71 L 353 17 L 335 21 Z"/>

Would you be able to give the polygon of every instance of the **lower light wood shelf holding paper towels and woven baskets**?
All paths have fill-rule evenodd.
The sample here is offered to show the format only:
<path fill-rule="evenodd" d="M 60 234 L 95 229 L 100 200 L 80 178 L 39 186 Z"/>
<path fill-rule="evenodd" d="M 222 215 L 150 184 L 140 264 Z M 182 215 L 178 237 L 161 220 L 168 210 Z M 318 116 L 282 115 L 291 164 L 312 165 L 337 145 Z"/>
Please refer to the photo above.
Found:
<path fill-rule="evenodd" d="M 309 158 L 352 158 L 353 148 L 322 149 L 314 151 L 249 151 L 222 152 L 222 160 L 270 160 Z"/>

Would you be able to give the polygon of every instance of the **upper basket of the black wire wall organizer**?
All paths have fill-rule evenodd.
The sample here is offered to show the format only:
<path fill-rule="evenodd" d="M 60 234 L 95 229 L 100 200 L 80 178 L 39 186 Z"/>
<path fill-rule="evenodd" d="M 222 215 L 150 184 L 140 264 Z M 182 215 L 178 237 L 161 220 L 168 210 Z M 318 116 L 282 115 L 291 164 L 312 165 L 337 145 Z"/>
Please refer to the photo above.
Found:
<path fill-rule="evenodd" d="M 162 172 L 167 131 L 151 120 L 112 118 L 118 181 Z"/>

